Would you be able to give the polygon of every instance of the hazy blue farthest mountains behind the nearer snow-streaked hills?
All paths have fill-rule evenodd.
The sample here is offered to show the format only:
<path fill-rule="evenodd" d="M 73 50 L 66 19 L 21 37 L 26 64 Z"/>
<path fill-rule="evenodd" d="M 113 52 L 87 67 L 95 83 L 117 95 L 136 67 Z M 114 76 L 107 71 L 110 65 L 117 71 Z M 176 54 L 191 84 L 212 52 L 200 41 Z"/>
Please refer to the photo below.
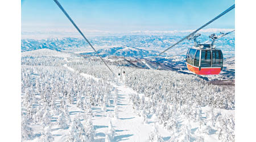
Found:
<path fill-rule="evenodd" d="M 208 33 L 202 34 L 198 40 L 201 43 L 209 40 Z M 89 41 L 98 51 L 99 49 L 106 49 L 112 47 L 135 47 L 144 49 L 146 51 L 163 51 L 175 44 L 184 36 L 177 35 L 125 35 L 125 36 L 98 36 L 90 37 Z M 184 52 L 193 45 L 193 41 L 184 40 L 167 53 L 175 55 Z M 234 56 L 234 35 L 226 35 L 216 41 L 217 48 L 222 49 L 226 57 Z M 42 40 L 22 39 L 22 52 L 32 51 L 35 49 L 48 48 L 56 51 L 70 51 L 70 52 L 92 52 L 89 44 L 84 39 L 73 37 L 64 38 L 49 38 Z M 184 55 L 184 54 L 183 54 Z"/>

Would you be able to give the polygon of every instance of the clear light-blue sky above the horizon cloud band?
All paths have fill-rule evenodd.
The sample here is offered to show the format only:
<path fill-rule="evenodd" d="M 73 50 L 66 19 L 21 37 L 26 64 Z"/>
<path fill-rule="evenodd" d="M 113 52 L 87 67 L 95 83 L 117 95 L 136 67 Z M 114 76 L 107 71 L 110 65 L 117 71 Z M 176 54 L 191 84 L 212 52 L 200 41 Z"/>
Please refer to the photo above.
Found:
<path fill-rule="evenodd" d="M 59 0 L 77 26 L 87 30 L 192 30 L 234 4 L 234 0 L 101 1 Z M 234 28 L 235 10 L 206 28 Z M 52 0 L 22 1 L 22 30 L 73 29 Z"/>

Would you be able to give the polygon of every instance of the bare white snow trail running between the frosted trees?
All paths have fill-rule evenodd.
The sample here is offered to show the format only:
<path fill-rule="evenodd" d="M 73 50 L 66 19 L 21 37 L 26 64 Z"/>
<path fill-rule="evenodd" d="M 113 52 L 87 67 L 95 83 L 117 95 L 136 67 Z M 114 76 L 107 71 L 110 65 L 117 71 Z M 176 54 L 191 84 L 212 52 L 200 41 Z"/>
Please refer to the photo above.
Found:
<path fill-rule="evenodd" d="M 67 61 L 67 59 L 65 59 Z M 64 65 L 72 72 L 76 72 L 74 69 Z M 93 78 L 94 80 L 101 80 L 101 78 L 93 77 L 89 74 L 80 73 L 86 78 Z M 117 82 L 118 78 L 115 77 Z M 92 107 L 94 117 L 92 118 L 93 126 L 96 128 L 95 141 L 105 141 L 105 133 L 108 132 L 108 124 L 112 121 L 115 137 L 114 141 L 148 141 L 150 132 L 154 129 L 154 119 L 148 118 L 148 123 L 143 123 L 143 117 L 136 114 L 136 110 L 129 102 L 129 94 L 137 93 L 130 87 L 126 87 L 125 83 L 118 80 L 116 83 L 110 82 L 118 90 L 118 118 L 110 118 L 107 116 L 107 112 L 114 112 L 113 102 L 112 105 L 107 107 L 107 111 L 102 111 L 100 107 Z M 112 91 L 112 96 L 114 91 Z M 159 125 L 159 133 L 164 140 L 170 139 L 170 132 L 165 130 Z M 60 139 L 61 140 L 61 139 Z"/>

